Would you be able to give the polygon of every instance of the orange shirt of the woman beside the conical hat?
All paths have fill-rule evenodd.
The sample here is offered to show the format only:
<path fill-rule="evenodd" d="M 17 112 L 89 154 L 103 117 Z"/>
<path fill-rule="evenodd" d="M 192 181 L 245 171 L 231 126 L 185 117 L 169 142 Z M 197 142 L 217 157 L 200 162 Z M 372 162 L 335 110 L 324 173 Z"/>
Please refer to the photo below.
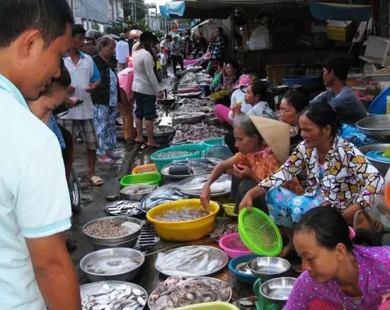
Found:
<path fill-rule="evenodd" d="M 243 154 L 241 152 L 234 155 L 236 165 L 250 167 L 256 176 L 263 180 L 280 167 L 280 162 L 270 148 L 263 148 L 258 153 Z M 287 182 L 285 187 L 295 194 L 302 194 L 303 188 L 298 179 L 294 177 L 291 182 Z"/>

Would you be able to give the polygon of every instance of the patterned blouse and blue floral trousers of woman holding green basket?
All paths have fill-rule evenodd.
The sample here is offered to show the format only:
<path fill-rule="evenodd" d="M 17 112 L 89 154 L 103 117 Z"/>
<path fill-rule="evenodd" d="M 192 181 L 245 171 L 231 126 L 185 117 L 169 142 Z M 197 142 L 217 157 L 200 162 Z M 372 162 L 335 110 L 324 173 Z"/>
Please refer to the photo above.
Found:
<path fill-rule="evenodd" d="M 303 196 L 280 188 L 302 170 L 306 170 L 308 184 Z M 282 167 L 258 185 L 268 193 L 268 209 L 275 223 L 293 227 L 306 211 L 324 201 L 339 211 L 352 204 L 368 209 L 374 195 L 382 191 L 384 179 L 355 145 L 336 137 L 322 169 L 317 150 L 302 142 Z"/>

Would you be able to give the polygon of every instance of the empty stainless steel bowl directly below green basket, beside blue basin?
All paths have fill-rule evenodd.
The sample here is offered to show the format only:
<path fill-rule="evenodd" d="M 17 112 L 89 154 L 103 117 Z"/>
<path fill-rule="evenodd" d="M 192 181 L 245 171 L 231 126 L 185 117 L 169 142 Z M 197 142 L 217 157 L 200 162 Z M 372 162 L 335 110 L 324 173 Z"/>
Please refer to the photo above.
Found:
<path fill-rule="evenodd" d="M 291 268 L 291 264 L 284 258 L 260 257 L 248 262 L 248 268 L 253 275 L 262 279 L 273 279 L 285 274 Z"/>

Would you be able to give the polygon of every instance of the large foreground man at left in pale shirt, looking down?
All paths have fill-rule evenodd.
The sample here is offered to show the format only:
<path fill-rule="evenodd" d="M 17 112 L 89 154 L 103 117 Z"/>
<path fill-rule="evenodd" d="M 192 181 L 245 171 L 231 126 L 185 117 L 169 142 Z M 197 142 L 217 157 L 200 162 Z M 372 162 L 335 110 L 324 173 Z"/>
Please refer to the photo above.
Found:
<path fill-rule="evenodd" d="M 81 309 L 61 149 L 25 101 L 58 76 L 72 23 L 67 0 L 0 0 L 1 310 Z"/>

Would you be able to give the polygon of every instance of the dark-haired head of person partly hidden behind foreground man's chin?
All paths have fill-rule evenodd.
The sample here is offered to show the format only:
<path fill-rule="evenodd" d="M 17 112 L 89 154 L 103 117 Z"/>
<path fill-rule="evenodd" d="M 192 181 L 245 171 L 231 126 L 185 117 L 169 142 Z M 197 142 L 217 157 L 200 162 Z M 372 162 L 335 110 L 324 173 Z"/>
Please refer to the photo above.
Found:
<path fill-rule="evenodd" d="M 67 99 L 70 84 L 71 77 L 62 60 L 59 77 L 52 78 L 52 84 L 47 85 L 37 100 L 29 101 L 31 112 L 46 123 L 51 112 Z"/>

